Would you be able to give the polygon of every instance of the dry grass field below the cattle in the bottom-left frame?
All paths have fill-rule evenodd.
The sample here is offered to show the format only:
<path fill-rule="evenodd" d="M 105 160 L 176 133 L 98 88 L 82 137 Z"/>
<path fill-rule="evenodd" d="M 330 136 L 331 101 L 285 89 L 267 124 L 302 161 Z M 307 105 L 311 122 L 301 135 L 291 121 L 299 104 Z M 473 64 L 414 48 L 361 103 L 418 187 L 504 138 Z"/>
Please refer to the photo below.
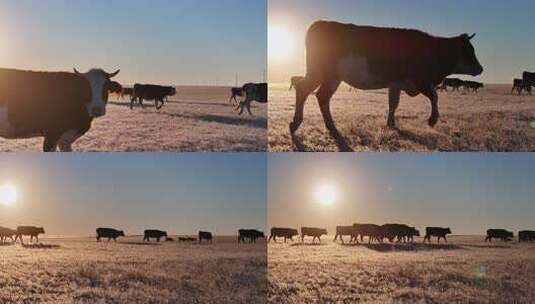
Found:
<path fill-rule="evenodd" d="M 266 245 L 45 239 L 0 246 L 0 303 L 262 303 Z"/>

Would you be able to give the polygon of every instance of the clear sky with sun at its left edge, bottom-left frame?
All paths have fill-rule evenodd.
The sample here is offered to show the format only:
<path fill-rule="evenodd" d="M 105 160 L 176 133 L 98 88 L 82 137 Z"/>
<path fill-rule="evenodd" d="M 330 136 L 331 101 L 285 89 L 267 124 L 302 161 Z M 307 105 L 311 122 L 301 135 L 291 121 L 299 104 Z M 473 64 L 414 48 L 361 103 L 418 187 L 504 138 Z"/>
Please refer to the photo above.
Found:
<path fill-rule="evenodd" d="M 127 234 L 264 229 L 266 162 L 262 153 L 3 154 L 0 184 L 14 185 L 18 200 L 0 204 L 0 226 L 71 236 L 99 226 Z"/>

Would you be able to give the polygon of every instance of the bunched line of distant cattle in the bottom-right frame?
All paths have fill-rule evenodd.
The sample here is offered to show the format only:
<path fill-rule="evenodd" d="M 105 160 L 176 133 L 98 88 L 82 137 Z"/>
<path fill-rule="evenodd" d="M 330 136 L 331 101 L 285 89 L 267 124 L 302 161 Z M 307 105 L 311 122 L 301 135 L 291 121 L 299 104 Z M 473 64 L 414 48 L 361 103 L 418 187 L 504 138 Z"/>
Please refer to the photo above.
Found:
<path fill-rule="evenodd" d="M 440 239 L 444 239 L 448 242 L 446 236 L 451 234 L 450 228 L 442 227 L 426 227 L 425 236 L 423 242 L 431 242 L 431 238 L 436 237 L 437 242 L 440 243 Z M 321 243 L 321 237 L 327 235 L 327 229 L 314 228 L 314 227 L 301 227 L 301 234 L 294 228 L 271 228 L 271 234 L 268 241 L 273 240 L 277 242 L 277 238 L 284 238 L 284 242 L 287 240 L 293 241 L 294 236 L 298 236 L 301 242 L 305 242 L 305 237 L 312 237 L 312 243 L 318 240 Z M 388 240 L 390 243 L 396 242 L 414 242 L 414 237 L 420 236 L 420 231 L 415 227 L 405 224 L 360 224 L 355 223 L 351 226 L 336 226 L 336 233 L 334 236 L 334 242 L 340 240 L 344 243 L 344 237 L 349 237 L 349 243 L 361 243 L 367 239 L 368 243 L 378 242 L 383 243 Z M 505 229 L 488 229 L 485 241 L 491 242 L 492 239 L 501 239 L 503 241 L 510 241 L 514 238 L 514 234 Z M 522 230 L 518 233 L 518 240 L 520 242 L 535 241 L 535 231 Z"/>

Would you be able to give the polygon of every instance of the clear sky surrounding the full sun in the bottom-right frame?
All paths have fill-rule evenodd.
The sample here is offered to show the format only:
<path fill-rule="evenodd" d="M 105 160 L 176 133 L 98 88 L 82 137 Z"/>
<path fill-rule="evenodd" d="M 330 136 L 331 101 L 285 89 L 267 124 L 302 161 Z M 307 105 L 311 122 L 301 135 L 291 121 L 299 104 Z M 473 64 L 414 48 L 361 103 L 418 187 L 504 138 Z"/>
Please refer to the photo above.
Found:
<path fill-rule="evenodd" d="M 535 230 L 535 155 L 520 153 L 313 153 L 268 156 L 268 225 L 408 223 Z M 336 189 L 331 205 L 316 190 Z"/>

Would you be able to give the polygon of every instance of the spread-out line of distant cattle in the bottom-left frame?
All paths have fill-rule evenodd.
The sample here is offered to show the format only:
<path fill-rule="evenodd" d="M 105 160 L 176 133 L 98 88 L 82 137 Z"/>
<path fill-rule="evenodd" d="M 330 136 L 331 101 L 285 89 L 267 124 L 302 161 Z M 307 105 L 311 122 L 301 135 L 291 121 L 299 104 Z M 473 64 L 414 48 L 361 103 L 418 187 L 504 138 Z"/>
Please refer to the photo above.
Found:
<path fill-rule="evenodd" d="M 29 236 L 30 242 L 33 242 L 35 238 L 36 242 L 39 242 L 39 235 L 44 234 L 45 229 L 43 227 L 35 226 L 18 226 L 17 229 L 10 229 L 6 227 L 0 227 L 0 243 L 4 243 L 7 239 L 10 239 L 11 242 L 16 243 L 17 240 L 23 243 L 23 236 Z M 101 239 L 108 239 L 108 241 L 114 240 L 117 241 L 117 238 L 126 236 L 123 230 L 118 230 L 114 228 L 97 228 L 97 242 L 100 242 Z M 239 229 L 238 230 L 238 243 L 256 243 L 256 240 L 259 238 L 265 238 L 262 231 L 256 229 Z M 143 232 L 143 242 L 150 242 L 151 239 L 155 239 L 157 242 L 164 240 L 166 242 L 175 241 L 174 238 L 169 237 L 166 231 L 158 229 L 146 229 Z M 208 231 L 199 231 L 198 239 L 190 236 L 178 236 L 176 238 L 179 242 L 195 242 L 199 243 L 207 242 L 212 243 L 213 235 Z"/>

